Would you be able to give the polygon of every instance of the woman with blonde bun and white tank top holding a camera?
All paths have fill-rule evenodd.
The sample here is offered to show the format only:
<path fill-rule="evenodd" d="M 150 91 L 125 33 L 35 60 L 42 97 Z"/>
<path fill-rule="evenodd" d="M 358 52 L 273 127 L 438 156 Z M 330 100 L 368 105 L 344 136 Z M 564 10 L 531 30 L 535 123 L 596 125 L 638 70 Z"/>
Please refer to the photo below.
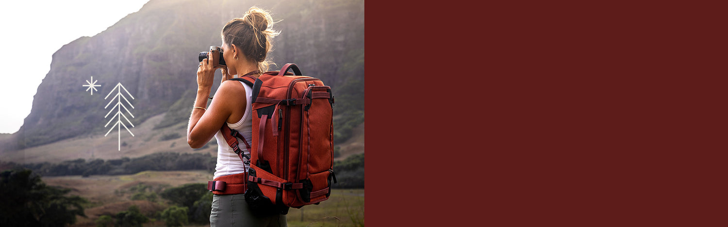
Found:
<path fill-rule="evenodd" d="M 251 7 L 241 18 L 227 22 L 221 38 L 223 58 L 227 67 L 221 67 L 222 83 L 215 92 L 215 102 L 207 107 L 207 96 L 213 86 L 216 68 L 210 65 L 215 57 L 211 52 L 203 59 L 197 70 L 197 99 L 189 118 L 187 142 L 192 148 L 199 148 L 215 136 L 218 141 L 218 160 L 214 178 L 243 174 L 248 168 L 233 152 L 223 138 L 220 128 L 227 124 L 238 131 L 250 144 L 252 117 L 250 110 L 250 86 L 241 81 L 228 81 L 233 75 L 259 76 L 268 70 L 272 62 L 266 59 L 271 51 L 272 38 L 279 32 L 272 29 L 271 15 L 257 7 Z M 240 147 L 250 157 L 245 147 Z M 229 182 L 228 182 L 229 183 Z M 287 226 L 285 215 L 256 216 L 245 202 L 244 194 L 213 195 L 213 210 L 210 226 Z"/>

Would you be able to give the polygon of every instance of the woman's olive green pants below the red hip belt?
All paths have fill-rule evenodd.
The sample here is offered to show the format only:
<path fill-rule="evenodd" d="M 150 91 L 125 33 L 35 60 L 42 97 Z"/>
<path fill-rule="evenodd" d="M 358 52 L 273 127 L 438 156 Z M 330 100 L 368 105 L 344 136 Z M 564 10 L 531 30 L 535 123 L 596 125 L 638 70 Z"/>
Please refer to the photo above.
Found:
<path fill-rule="evenodd" d="M 250 212 L 244 194 L 213 195 L 210 227 L 288 226 L 285 215 L 256 217 Z"/>

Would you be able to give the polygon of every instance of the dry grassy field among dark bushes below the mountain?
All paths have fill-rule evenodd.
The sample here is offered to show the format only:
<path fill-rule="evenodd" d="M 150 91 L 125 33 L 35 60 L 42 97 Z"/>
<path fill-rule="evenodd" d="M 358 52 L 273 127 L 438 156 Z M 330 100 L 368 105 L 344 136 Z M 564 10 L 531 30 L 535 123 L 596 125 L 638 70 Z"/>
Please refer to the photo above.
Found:
<path fill-rule="evenodd" d="M 114 215 L 131 205 L 137 205 L 149 218 L 155 218 L 157 212 L 170 206 L 162 198 L 156 202 L 131 200 L 130 189 L 140 183 L 151 186 L 153 191 L 162 191 L 185 183 L 206 183 L 210 178 L 212 174 L 205 171 L 144 171 L 122 176 L 44 177 L 43 181 L 51 186 L 71 189 L 70 194 L 88 199 L 90 203 L 85 207 L 87 218 L 78 217 L 73 226 L 95 226 L 94 221 L 101 215 Z M 144 226 L 165 226 L 165 223 L 155 220 Z M 334 189 L 331 197 L 320 205 L 291 208 L 288 226 L 364 226 L 364 189 Z"/>

